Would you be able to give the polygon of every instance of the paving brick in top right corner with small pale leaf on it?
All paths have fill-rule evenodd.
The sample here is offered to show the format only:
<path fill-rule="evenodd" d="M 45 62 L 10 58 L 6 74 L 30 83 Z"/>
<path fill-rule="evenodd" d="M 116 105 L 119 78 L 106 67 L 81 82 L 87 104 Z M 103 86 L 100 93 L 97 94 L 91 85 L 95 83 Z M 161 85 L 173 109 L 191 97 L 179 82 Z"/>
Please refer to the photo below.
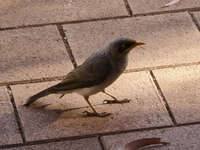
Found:
<path fill-rule="evenodd" d="M 199 0 L 192 0 L 192 1 L 180 1 L 177 4 L 163 8 L 163 6 L 165 6 L 165 4 L 169 3 L 170 1 L 172 0 L 162 0 L 162 1 L 128 0 L 134 15 L 200 7 Z"/>

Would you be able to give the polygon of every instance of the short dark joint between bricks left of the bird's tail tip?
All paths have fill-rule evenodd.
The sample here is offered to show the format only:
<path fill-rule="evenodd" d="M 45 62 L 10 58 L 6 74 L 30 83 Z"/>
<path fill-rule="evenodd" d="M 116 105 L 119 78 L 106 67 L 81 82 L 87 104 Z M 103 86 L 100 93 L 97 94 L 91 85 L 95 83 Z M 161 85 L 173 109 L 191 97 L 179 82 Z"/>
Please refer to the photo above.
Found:
<path fill-rule="evenodd" d="M 19 113 L 17 111 L 17 107 L 16 107 L 16 104 L 15 104 L 14 96 L 12 94 L 12 89 L 11 89 L 10 86 L 7 86 L 7 90 L 8 90 L 8 94 L 9 94 L 9 97 L 10 97 L 10 101 L 11 101 L 13 109 L 14 109 L 15 119 L 16 119 L 16 122 L 17 122 L 17 125 L 18 125 L 18 129 L 19 129 L 22 141 L 23 141 L 23 143 L 25 143 L 26 142 L 26 137 L 25 137 L 25 133 L 24 133 L 24 130 L 23 130 L 21 119 L 19 117 Z"/>

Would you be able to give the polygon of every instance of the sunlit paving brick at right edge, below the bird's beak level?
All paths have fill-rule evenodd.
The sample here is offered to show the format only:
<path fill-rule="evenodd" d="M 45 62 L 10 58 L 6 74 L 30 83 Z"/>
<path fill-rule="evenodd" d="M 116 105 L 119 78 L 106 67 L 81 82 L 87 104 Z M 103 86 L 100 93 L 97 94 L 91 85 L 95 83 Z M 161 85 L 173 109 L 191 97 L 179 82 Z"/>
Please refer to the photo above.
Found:
<path fill-rule="evenodd" d="M 178 123 L 200 121 L 200 66 L 153 72 Z"/>

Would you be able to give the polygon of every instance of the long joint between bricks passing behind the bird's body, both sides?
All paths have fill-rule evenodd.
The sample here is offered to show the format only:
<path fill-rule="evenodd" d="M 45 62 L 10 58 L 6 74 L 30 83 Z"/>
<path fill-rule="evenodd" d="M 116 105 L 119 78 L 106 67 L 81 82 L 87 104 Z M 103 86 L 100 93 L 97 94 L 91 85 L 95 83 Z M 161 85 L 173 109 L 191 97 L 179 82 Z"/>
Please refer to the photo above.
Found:
<path fill-rule="evenodd" d="M 163 65 L 163 66 L 155 66 L 155 67 L 144 67 L 144 68 L 128 69 L 128 70 L 125 70 L 124 73 L 133 73 L 133 72 L 159 70 L 159 69 L 169 69 L 169 68 L 177 68 L 177 67 L 187 67 L 187 66 L 194 66 L 194 65 L 200 65 L 200 62 L 192 62 L 192 63 L 182 63 L 182 64 L 172 64 L 172 65 Z M 64 79 L 64 77 L 65 76 L 55 76 L 55 77 L 45 77 L 45 78 L 31 79 L 31 80 L 0 82 L 0 86 L 17 85 L 17 84 L 30 84 L 30 83 L 40 83 L 40 82 L 48 82 L 48 81 L 57 81 L 57 80 Z"/>

